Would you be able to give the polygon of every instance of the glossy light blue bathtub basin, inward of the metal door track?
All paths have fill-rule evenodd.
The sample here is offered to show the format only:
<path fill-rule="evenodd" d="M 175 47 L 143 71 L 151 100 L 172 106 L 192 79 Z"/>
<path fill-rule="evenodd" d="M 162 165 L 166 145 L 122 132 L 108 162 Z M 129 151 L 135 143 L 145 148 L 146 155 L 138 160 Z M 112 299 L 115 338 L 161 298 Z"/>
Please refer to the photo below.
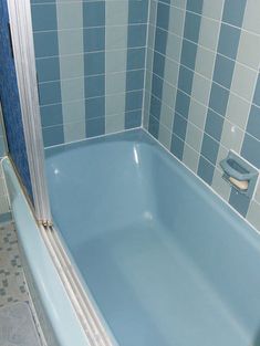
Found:
<path fill-rule="evenodd" d="M 260 238 L 144 130 L 45 150 L 58 230 L 123 346 L 257 345 Z"/>

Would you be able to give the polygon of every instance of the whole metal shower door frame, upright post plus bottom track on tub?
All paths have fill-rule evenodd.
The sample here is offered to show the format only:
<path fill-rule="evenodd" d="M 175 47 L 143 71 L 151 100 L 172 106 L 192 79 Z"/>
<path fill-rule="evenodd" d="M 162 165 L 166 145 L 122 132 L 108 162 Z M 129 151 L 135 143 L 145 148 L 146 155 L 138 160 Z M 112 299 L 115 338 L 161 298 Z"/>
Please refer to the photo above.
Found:
<path fill-rule="evenodd" d="M 87 345 L 116 346 L 116 340 L 110 331 L 106 329 L 105 322 L 80 281 L 60 240 L 59 232 L 52 223 L 44 170 L 44 146 L 41 130 L 31 3 L 30 0 L 7 0 L 7 2 L 34 198 L 34 214 L 39 229 L 81 326 L 85 332 Z"/>

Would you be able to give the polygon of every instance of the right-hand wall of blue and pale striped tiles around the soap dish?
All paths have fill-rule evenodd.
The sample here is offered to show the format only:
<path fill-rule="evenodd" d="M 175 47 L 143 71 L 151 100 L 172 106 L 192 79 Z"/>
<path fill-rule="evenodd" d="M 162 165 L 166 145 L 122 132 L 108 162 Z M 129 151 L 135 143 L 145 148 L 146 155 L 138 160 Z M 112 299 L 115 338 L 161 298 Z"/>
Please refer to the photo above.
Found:
<path fill-rule="evenodd" d="M 144 126 L 260 230 L 221 178 L 233 149 L 260 168 L 260 1 L 152 0 Z"/>

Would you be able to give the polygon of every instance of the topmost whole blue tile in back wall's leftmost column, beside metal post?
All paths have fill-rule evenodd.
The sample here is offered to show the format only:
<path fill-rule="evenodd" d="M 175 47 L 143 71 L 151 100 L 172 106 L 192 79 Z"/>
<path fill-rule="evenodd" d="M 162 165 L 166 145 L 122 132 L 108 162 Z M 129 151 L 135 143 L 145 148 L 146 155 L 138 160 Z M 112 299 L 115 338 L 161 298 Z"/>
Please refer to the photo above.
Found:
<path fill-rule="evenodd" d="M 55 3 L 33 6 L 31 10 L 33 31 L 56 30 Z"/>

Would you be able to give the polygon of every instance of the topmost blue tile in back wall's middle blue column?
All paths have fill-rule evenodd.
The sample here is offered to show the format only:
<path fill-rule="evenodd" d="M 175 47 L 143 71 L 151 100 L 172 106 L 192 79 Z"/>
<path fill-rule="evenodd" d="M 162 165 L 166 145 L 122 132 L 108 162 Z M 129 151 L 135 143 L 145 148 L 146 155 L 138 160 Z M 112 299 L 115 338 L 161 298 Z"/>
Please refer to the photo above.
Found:
<path fill-rule="evenodd" d="M 105 25 L 105 1 L 83 2 L 83 27 Z"/>

